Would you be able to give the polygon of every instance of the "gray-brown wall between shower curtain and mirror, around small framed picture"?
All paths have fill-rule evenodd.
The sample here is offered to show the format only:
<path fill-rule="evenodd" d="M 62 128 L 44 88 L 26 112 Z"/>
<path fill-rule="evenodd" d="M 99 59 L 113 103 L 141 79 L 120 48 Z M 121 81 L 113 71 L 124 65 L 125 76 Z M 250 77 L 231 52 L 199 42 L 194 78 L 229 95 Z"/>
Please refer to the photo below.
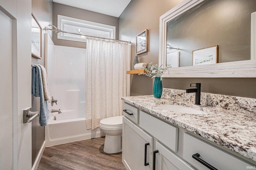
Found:
<path fill-rule="evenodd" d="M 131 68 L 136 55 L 136 35 L 148 29 L 148 52 L 138 55 L 140 63 L 158 64 L 159 17 L 182 0 L 131 0 L 119 17 L 119 39 L 132 42 Z M 152 79 L 131 75 L 131 96 L 152 94 Z"/>

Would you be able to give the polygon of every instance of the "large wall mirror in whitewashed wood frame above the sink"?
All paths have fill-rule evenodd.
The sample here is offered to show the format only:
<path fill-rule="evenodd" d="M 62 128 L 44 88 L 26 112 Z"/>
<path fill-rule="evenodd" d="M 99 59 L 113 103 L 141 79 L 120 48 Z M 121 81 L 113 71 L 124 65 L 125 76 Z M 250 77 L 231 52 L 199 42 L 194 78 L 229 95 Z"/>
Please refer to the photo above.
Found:
<path fill-rule="evenodd" d="M 246 13 L 240 14 L 240 9 L 247 9 Z M 167 54 L 178 54 L 182 67 L 170 68 L 163 77 L 256 77 L 256 62 L 250 60 L 254 59 L 255 29 L 250 35 L 255 11 L 255 0 L 184 0 L 166 12 L 160 17 L 159 64 L 166 65 Z M 217 64 L 192 66 L 192 51 L 216 45 Z M 246 70 L 251 74 L 245 75 Z"/>

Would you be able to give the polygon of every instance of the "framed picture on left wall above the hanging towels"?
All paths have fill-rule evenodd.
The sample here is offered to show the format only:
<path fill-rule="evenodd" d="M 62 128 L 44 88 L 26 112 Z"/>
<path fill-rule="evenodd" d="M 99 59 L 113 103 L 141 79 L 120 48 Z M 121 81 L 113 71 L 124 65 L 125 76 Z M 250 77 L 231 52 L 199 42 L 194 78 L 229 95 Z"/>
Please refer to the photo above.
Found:
<path fill-rule="evenodd" d="M 42 27 L 32 13 L 31 20 L 31 52 L 32 56 L 42 59 Z"/>

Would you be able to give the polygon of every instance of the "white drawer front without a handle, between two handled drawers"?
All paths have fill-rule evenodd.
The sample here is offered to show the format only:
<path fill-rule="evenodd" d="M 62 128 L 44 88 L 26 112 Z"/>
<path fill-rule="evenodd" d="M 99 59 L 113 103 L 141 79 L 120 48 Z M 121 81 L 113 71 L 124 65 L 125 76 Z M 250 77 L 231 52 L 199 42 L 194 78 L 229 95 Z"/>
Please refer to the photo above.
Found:
<path fill-rule="evenodd" d="M 140 111 L 140 127 L 174 152 L 178 151 L 178 127 L 161 121 L 144 111 Z"/>

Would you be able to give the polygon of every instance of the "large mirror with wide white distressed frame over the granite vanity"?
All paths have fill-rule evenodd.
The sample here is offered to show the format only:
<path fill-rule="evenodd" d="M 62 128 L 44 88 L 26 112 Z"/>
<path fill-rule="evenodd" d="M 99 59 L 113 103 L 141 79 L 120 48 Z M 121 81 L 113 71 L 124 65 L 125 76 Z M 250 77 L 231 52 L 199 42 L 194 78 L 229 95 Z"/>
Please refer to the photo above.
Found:
<path fill-rule="evenodd" d="M 225 10 L 226 6 L 223 4 L 214 4 L 214 2 L 224 2 L 220 0 L 184 0 L 180 4 L 178 4 L 176 7 L 172 8 L 170 11 L 166 12 L 166 14 L 162 15 L 160 17 L 160 48 L 159 48 L 159 64 L 166 65 L 166 56 L 169 53 L 173 53 L 176 51 L 179 51 L 180 53 L 180 67 L 177 68 L 170 68 L 166 71 L 166 73 L 162 77 L 256 77 L 256 60 L 254 55 L 254 49 L 256 48 L 255 43 L 255 14 L 252 13 L 254 9 L 251 11 L 247 10 L 247 13 L 244 14 L 245 16 L 249 16 L 249 22 L 251 20 L 251 24 L 248 23 L 249 28 L 246 28 L 246 31 L 242 30 L 242 33 L 237 33 L 241 37 L 232 37 L 232 34 L 228 34 L 230 29 L 226 28 L 219 28 L 218 24 L 223 22 L 226 24 L 226 22 L 236 22 L 237 17 L 241 16 L 240 14 L 238 16 L 234 16 L 234 14 L 237 14 L 237 11 L 234 10 Z M 229 3 L 234 4 L 235 1 L 229 1 Z M 241 1 L 242 2 L 242 1 Z M 246 1 L 247 2 L 247 1 Z M 255 3 L 256 4 L 256 3 Z M 234 4 L 234 6 L 241 6 L 241 4 Z M 246 4 L 247 5 L 247 4 Z M 248 6 L 248 5 L 247 5 Z M 217 9 L 216 9 L 217 8 Z M 221 14 L 221 9 L 223 9 L 223 12 L 226 12 L 226 15 L 230 18 L 225 18 L 223 14 Z M 229 6 L 231 9 L 231 5 Z M 245 8 L 243 6 L 243 8 Z M 255 9 L 256 11 L 256 9 Z M 206 21 L 202 21 L 202 16 L 207 16 Z M 215 12 L 214 14 L 212 12 Z M 193 14 L 194 13 L 194 14 Z M 251 14 L 252 13 L 252 14 Z M 198 21 L 196 21 L 195 18 L 192 18 L 192 16 L 195 16 L 196 18 L 199 18 Z M 188 19 L 184 19 L 184 17 L 188 17 Z M 220 21 L 220 18 L 224 18 L 224 21 Z M 232 21 L 232 18 L 235 18 L 234 21 Z M 208 19 L 208 20 L 207 20 Z M 180 21 L 181 20 L 181 21 Z M 215 25 L 210 25 L 213 20 L 217 20 Z M 200 23 L 201 22 L 201 23 Z M 191 23 L 193 27 L 188 26 L 187 24 Z M 194 28 L 195 25 L 199 25 L 199 27 L 204 27 L 205 25 L 205 34 L 202 31 L 198 31 L 199 33 L 191 33 L 189 32 L 190 29 L 196 29 Z M 176 25 L 175 25 L 176 24 Z M 241 23 L 238 23 L 240 25 L 238 26 L 232 26 L 237 29 L 237 27 L 244 27 L 244 25 L 241 26 Z M 168 29 L 170 29 L 170 25 L 174 25 L 171 29 L 172 31 L 175 29 L 182 30 L 182 26 L 184 26 L 182 33 L 170 33 L 168 32 Z M 178 25 L 178 26 L 177 26 Z M 175 28 L 176 27 L 176 28 Z M 211 29 L 212 28 L 212 29 Z M 215 30 L 216 29 L 216 30 Z M 226 30 L 225 30 L 226 29 Z M 249 30 L 249 33 L 248 33 Z M 252 31 L 250 31 L 252 30 Z M 237 30 L 235 30 L 237 31 Z M 215 34 L 208 35 L 208 33 Z M 223 32 L 223 33 L 222 33 Z M 251 33 L 252 32 L 252 33 Z M 185 34 L 188 34 L 188 37 L 183 37 Z M 236 33 L 234 35 L 236 35 Z M 169 35 L 168 35 L 169 34 Z M 171 34 L 177 35 L 176 37 L 170 36 Z M 222 40 L 216 39 L 215 37 L 218 34 L 222 37 Z M 226 36 L 223 38 L 223 36 Z M 201 36 L 201 37 L 200 37 Z M 246 37 L 247 36 L 247 37 Z M 169 37 L 172 37 L 173 39 L 168 39 Z M 229 37 L 229 38 L 228 38 Z M 230 39 L 231 37 L 231 39 Z M 224 45 L 225 41 L 230 43 L 230 41 L 233 43 L 234 41 L 242 41 L 242 38 L 246 37 L 246 45 L 230 45 L 230 47 L 235 49 L 241 49 L 239 57 L 241 59 L 237 59 L 239 57 L 236 57 L 237 52 L 232 49 L 228 45 Z M 200 39 L 201 38 L 201 39 Z M 233 39 L 232 39 L 233 38 Z M 201 42 L 204 39 L 210 39 L 208 41 Z M 251 40 L 250 40 L 251 39 Z M 189 44 L 189 41 L 191 41 L 191 44 Z M 179 44 L 180 43 L 180 44 Z M 199 46 L 195 46 L 195 44 L 199 44 Z M 217 64 L 207 64 L 207 65 L 195 65 L 192 66 L 192 51 L 196 49 L 204 49 L 206 46 L 211 45 L 218 45 L 220 50 L 220 62 Z M 246 51 L 247 50 L 247 51 Z M 230 52 L 230 54 L 228 54 Z M 186 55 L 187 53 L 187 55 Z M 233 58 L 230 59 L 230 56 Z M 243 58 L 243 56 L 246 56 Z M 184 63 L 184 58 L 187 58 Z M 251 59 L 251 60 L 250 60 Z M 239 61 L 244 60 L 244 61 Z M 228 62 L 232 61 L 232 62 Z M 187 62 L 187 63 L 186 63 Z M 225 63 L 224 63 L 225 62 Z"/>

